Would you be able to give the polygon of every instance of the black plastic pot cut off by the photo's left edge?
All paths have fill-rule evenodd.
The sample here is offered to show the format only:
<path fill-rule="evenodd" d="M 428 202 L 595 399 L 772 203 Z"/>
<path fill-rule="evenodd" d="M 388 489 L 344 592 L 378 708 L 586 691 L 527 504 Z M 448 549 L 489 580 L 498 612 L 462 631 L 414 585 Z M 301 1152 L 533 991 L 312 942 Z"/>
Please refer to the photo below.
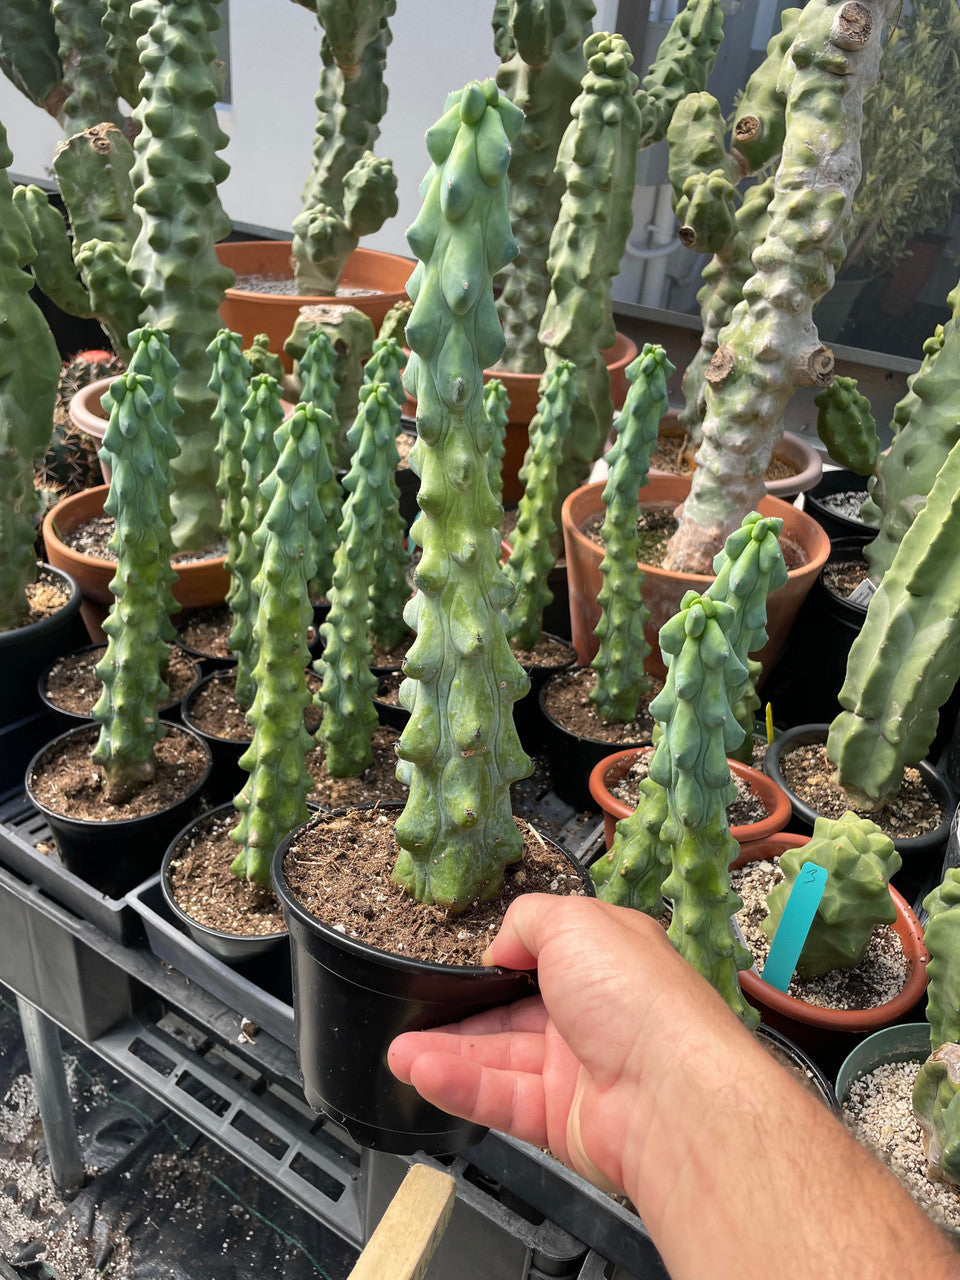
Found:
<path fill-rule="evenodd" d="M 37 676 L 55 658 L 87 639 L 81 618 L 82 595 L 73 579 L 50 564 L 42 573 L 69 589 L 64 607 L 47 618 L 13 631 L 0 631 L 0 728 L 42 709 Z"/>

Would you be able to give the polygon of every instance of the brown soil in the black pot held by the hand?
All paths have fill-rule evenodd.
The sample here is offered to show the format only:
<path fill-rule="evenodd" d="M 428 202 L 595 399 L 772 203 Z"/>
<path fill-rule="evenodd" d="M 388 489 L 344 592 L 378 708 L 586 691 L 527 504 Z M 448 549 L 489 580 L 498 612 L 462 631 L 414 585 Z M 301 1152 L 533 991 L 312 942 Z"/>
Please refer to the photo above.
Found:
<path fill-rule="evenodd" d="M 399 852 L 393 826 L 392 814 L 376 810 L 323 815 L 301 832 L 283 864 L 306 910 L 381 951 L 435 964 L 479 965 L 515 897 L 584 893 L 570 860 L 518 820 L 524 856 L 507 868 L 495 899 L 462 915 L 424 906 L 390 879 Z"/>

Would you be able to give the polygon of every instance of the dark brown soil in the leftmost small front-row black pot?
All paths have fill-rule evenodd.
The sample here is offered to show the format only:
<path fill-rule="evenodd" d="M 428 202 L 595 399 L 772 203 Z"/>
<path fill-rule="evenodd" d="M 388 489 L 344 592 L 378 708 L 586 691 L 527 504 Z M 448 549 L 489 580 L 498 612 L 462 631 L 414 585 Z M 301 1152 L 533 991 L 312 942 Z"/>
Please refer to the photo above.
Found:
<path fill-rule="evenodd" d="M 33 794 L 54 813 L 90 822 L 120 822 L 157 813 L 182 800 L 200 781 L 207 758 L 197 740 L 170 727 L 154 749 L 156 776 L 123 805 L 111 804 L 102 791 L 102 771 L 91 763 L 100 727 L 74 733 L 40 762 L 31 778 Z"/>

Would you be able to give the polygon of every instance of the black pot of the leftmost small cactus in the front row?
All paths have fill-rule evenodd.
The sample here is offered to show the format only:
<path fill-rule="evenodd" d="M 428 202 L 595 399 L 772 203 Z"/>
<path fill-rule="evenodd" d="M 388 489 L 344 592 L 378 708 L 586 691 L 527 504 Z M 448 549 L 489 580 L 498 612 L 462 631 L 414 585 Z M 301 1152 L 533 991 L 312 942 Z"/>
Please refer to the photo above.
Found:
<path fill-rule="evenodd" d="M 204 808 L 202 792 L 210 774 L 210 751 L 204 740 L 189 728 L 175 724 L 170 726 L 170 730 L 173 733 L 189 735 L 200 742 L 207 758 L 206 769 L 177 804 L 141 818 L 124 818 L 119 822 L 70 818 L 41 804 L 33 792 L 32 778 L 46 753 L 54 750 L 64 739 L 84 733 L 91 737 L 92 749 L 96 727 L 81 724 L 60 733 L 37 751 L 27 765 L 27 795 L 46 818 L 64 867 L 109 897 L 123 897 L 147 876 L 152 876 L 160 867 L 164 850 L 174 833 Z"/>

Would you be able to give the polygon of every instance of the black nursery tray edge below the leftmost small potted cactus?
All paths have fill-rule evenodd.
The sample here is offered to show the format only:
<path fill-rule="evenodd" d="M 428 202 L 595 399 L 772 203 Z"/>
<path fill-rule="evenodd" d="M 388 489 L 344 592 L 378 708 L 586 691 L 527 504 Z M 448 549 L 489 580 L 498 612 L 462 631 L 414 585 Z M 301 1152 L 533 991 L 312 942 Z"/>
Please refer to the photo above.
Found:
<path fill-rule="evenodd" d="M 140 916 L 128 902 L 108 897 L 63 865 L 46 819 L 22 792 L 0 803 L 0 863 L 114 942 L 129 946 L 143 937 Z"/>

